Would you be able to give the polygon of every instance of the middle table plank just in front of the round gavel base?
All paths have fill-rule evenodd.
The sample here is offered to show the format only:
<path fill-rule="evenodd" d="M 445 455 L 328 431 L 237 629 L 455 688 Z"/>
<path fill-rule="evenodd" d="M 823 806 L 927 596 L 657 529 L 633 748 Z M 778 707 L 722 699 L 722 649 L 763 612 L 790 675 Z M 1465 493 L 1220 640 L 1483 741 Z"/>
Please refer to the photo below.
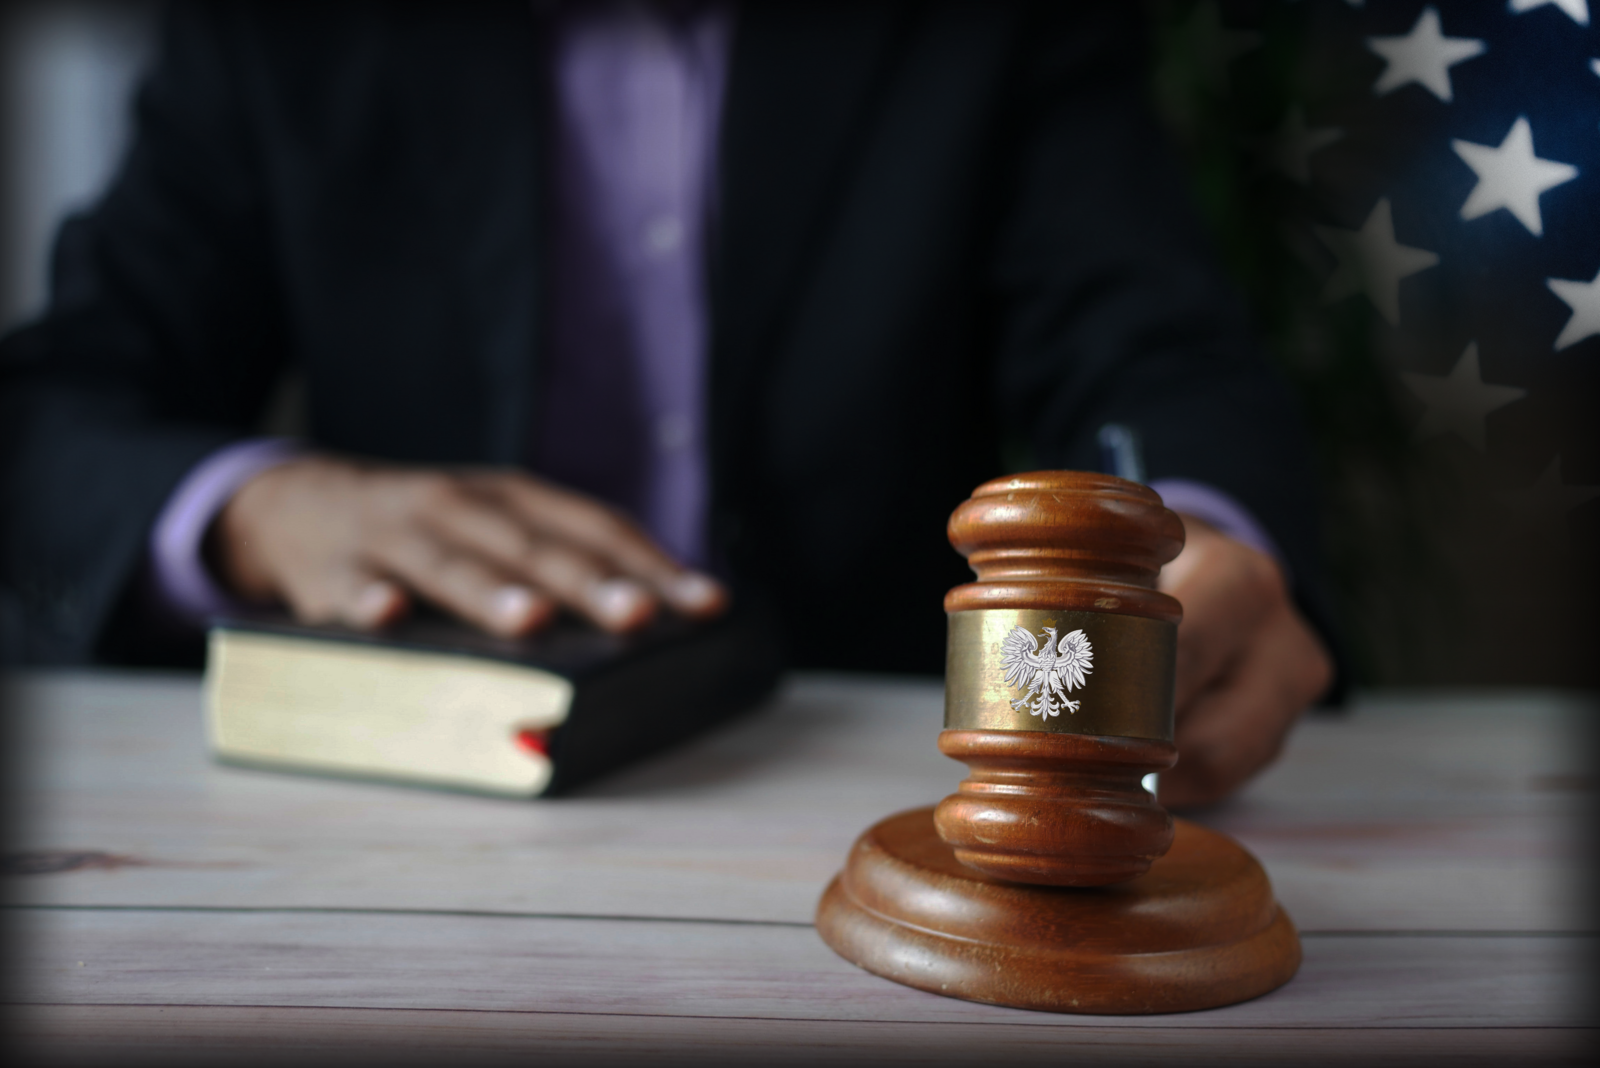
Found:
<path fill-rule="evenodd" d="M 1592 938 L 1323 935 L 1288 986 L 1203 1014 L 1069 1017 L 922 993 L 810 927 L 366 913 L 22 910 L 6 990 L 45 1004 L 472 1009 L 1018 1028 L 1576 1026 Z"/>

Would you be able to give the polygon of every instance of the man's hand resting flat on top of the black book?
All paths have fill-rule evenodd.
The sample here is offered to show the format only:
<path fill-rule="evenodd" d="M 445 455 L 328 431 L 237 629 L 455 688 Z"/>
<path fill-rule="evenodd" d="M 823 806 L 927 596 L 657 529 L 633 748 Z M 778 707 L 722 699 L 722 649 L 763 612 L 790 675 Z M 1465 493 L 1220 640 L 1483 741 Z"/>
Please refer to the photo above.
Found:
<path fill-rule="evenodd" d="M 613 632 L 659 604 L 691 617 L 726 606 L 720 585 L 611 508 L 509 470 L 290 460 L 234 494 L 208 555 L 237 595 L 363 630 L 413 596 L 504 636 L 562 606 Z"/>

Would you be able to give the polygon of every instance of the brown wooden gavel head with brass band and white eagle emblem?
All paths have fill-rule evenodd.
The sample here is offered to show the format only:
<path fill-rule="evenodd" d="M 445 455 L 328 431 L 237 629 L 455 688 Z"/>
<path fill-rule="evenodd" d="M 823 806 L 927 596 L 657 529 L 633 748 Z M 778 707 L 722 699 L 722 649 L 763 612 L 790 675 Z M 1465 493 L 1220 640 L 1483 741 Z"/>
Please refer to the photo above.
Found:
<path fill-rule="evenodd" d="M 950 516 L 976 582 L 949 614 L 939 750 L 970 775 L 939 836 L 1002 879 L 1102 886 L 1144 873 L 1173 820 L 1142 787 L 1171 767 L 1178 601 L 1155 588 L 1182 521 L 1138 483 L 1035 472 Z"/>

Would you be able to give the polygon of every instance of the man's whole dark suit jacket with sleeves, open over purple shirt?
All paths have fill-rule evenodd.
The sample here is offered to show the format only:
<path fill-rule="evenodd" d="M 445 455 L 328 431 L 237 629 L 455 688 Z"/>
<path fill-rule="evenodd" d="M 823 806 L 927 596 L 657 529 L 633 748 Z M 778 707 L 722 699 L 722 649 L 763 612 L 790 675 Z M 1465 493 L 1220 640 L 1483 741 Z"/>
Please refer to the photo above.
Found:
<path fill-rule="evenodd" d="M 1142 106 L 1120 3 L 750 3 L 712 257 L 715 550 L 794 660 L 938 671 L 1008 467 L 1245 502 L 1318 620 L 1312 475 Z M 0 349 L 8 659 L 134 648 L 149 526 L 286 366 L 314 441 L 517 464 L 546 320 L 526 0 L 174 8 L 114 187 Z"/>

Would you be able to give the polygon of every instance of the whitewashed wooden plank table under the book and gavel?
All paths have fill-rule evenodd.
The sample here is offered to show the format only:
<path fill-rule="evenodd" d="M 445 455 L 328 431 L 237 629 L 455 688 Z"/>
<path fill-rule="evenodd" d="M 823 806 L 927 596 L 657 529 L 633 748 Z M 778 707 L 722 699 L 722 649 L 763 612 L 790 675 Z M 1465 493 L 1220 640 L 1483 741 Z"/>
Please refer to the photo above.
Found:
<path fill-rule="evenodd" d="M 922 681 L 802 676 L 579 796 L 515 803 L 211 764 L 192 676 L 14 678 L 5 998 L 38 1063 L 1584 1060 L 1594 702 L 1366 699 L 1202 814 L 1306 962 L 1171 1017 L 968 1004 L 811 929 L 882 815 L 960 767 Z M 43 870 L 40 870 L 43 868 Z M 53 870 L 51 870 L 53 868 Z"/>

